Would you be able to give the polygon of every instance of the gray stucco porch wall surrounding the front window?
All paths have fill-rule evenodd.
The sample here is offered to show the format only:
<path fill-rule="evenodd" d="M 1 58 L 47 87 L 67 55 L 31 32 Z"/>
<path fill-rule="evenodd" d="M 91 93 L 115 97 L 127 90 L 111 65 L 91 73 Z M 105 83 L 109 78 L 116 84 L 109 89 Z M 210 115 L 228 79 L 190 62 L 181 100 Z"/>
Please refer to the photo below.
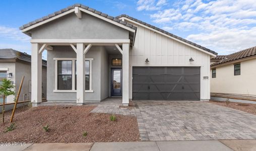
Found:
<path fill-rule="evenodd" d="M 107 66 L 106 52 L 103 46 L 92 46 L 90 50 L 86 53 L 86 58 L 93 58 L 92 60 L 92 90 L 93 93 L 86 93 L 86 101 L 101 101 L 106 98 L 102 89 L 105 86 L 105 70 L 102 69 L 101 65 Z M 55 88 L 55 60 L 53 58 L 76 58 L 75 51 L 71 46 L 53 46 L 53 51 L 48 51 L 47 53 L 47 100 L 48 101 L 76 101 L 76 93 L 74 92 L 53 92 Z M 101 88 L 101 86 L 103 88 Z M 108 92 L 108 90 L 105 90 Z"/>

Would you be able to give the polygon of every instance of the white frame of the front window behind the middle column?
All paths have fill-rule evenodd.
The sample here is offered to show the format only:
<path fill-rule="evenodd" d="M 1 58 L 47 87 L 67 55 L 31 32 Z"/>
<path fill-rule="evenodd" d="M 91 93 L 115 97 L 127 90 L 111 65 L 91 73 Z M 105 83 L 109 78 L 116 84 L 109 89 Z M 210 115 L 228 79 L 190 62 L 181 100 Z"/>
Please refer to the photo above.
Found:
<path fill-rule="evenodd" d="M 75 76 L 76 76 L 76 72 L 75 72 L 75 65 L 76 65 L 76 60 L 77 58 L 53 58 L 53 60 L 55 60 L 55 88 L 53 90 L 53 92 L 77 92 L 77 90 L 75 90 Z M 58 61 L 72 61 L 72 90 L 58 90 L 57 86 L 58 86 Z M 85 90 L 85 93 L 93 93 L 94 91 L 92 90 L 92 60 L 94 60 L 93 58 L 85 58 L 86 61 L 90 61 L 90 90 Z"/>

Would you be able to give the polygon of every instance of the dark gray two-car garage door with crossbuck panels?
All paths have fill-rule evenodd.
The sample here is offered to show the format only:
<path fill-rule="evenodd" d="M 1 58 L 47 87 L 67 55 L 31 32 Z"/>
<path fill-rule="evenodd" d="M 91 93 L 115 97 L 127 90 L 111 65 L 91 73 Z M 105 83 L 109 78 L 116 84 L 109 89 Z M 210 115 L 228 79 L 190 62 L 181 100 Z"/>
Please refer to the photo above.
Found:
<path fill-rule="evenodd" d="M 200 100 L 200 67 L 133 67 L 133 100 Z"/>

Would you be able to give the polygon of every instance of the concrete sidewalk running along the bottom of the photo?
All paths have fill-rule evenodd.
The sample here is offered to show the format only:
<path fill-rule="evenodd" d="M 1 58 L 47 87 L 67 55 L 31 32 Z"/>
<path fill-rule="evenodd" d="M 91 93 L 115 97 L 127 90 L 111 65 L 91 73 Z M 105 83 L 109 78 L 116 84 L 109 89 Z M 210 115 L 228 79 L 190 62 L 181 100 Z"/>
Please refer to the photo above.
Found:
<path fill-rule="evenodd" d="M 87 143 L 35 143 L 25 146 L 0 146 L 0 150 L 195 150 L 195 151 L 229 151 L 256 150 L 256 140 L 195 140 L 195 141 L 139 141 L 139 142 L 87 142 Z"/>

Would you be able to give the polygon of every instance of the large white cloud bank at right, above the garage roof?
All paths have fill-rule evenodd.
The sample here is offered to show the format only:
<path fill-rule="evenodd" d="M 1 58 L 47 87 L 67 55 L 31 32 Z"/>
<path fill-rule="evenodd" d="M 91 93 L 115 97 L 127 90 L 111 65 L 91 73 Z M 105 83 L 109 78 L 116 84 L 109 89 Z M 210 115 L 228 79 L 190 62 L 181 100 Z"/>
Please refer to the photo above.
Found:
<path fill-rule="evenodd" d="M 217 52 L 256 45 L 254 0 L 177 1 L 155 11 L 150 18 L 165 30 L 186 32 L 187 39 Z"/>

